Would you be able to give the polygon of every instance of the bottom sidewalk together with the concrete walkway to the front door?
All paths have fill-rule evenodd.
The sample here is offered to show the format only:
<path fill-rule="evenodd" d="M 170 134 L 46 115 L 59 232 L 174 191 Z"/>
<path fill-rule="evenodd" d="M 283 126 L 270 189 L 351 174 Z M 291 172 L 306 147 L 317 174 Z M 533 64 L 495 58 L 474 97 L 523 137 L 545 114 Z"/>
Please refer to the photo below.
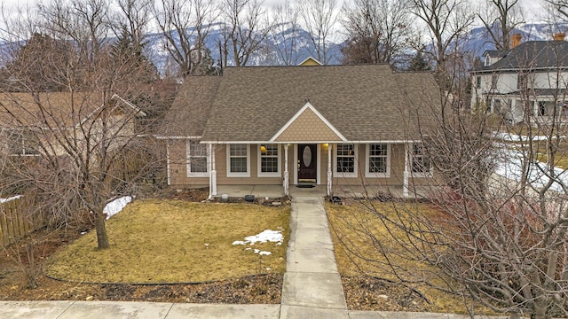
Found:
<path fill-rule="evenodd" d="M 334 246 L 329 233 L 327 215 L 323 206 L 324 194 L 321 193 L 321 189 L 290 191 L 292 191 L 290 238 L 280 305 L 69 300 L 0 301 L 0 318 L 464 319 L 469 317 L 467 315 L 347 310 L 341 277 L 335 263 Z"/>

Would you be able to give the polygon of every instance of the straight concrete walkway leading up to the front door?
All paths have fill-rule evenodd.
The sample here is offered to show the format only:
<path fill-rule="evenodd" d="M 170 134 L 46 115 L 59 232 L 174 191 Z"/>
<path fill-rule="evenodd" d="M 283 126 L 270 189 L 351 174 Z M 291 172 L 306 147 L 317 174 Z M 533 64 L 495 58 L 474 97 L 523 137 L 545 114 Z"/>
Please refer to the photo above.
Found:
<path fill-rule="evenodd" d="M 312 192 L 292 195 L 280 318 L 348 318 L 323 197 Z"/>

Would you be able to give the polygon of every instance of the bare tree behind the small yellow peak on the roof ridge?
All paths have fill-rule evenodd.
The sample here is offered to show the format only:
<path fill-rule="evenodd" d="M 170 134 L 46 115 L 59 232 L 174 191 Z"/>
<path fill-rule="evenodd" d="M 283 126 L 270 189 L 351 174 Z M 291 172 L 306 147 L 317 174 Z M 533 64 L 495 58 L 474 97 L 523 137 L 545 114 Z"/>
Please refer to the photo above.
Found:
<path fill-rule="evenodd" d="M 300 16 L 312 37 L 315 58 L 324 65 L 331 58 L 327 54 L 327 44 L 339 10 L 335 0 L 307 0 L 300 3 Z"/>

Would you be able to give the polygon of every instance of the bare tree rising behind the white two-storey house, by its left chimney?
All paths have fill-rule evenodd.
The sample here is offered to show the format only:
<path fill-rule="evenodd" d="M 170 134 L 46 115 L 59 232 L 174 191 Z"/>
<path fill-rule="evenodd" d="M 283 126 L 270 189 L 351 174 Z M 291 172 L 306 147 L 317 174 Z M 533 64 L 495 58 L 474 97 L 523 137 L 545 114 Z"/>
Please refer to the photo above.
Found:
<path fill-rule="evenodd" d="M 518 0 L 490 0 L 481 4 L 477 17 L 491 36 L 495 48 L 500 51 L 510 49 L 511 32 L 524 22 L 523 8 Z M 485 9 L 485 14 L 484 12 Z"/>

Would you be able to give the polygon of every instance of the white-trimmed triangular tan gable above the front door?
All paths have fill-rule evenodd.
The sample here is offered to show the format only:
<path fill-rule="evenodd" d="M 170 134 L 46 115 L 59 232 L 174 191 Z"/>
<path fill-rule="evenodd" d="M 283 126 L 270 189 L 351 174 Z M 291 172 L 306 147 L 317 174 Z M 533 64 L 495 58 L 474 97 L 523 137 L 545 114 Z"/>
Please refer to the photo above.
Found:
<path fill-rule="evenodd" d="M 339 142 L 347 139 L 334 128 L 310 102 L 298 111 L 278 133 L 272 136 L 271 142 Z"/>

